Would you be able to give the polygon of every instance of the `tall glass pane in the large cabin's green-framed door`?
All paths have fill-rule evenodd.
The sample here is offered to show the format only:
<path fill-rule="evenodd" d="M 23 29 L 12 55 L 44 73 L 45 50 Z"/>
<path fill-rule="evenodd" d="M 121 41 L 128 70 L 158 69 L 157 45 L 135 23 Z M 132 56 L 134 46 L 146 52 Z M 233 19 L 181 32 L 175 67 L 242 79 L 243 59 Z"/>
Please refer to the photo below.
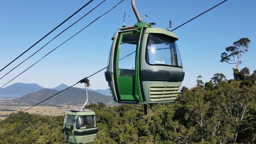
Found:
<path fill-rule="evenodd" d="M 135 54 L 139 33 L 122 35 L 119 46 L 119 76 L 135 76 Z"/>

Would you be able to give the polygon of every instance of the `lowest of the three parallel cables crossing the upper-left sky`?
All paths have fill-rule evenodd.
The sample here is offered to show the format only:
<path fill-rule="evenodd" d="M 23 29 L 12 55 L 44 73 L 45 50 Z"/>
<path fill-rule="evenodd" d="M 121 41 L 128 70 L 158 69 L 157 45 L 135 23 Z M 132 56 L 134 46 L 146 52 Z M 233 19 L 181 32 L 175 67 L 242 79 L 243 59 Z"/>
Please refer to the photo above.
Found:
<path fill-rule="evenodd" d="M 123 2 L 124 0 L 121 0 L 121 2 Z M 119 2 L 118 4 L 116 4 L 114 7 L 112 7 L 111 9 L 109 9 L 106 13 L 100 15 L 98 18 L 96 18 L 95 20 L 93 20 L 90 24 L 88 24 L 87 26 L 85 26 L 84 28 L 82 28 L 82 30 L 84 30 L 85 28 L 87 28 L 88 26 L 90 26 L 91 24 L 93 24 L 93 22 L 95 22 L 96 20 L 98 20 L 100 17 L 106 15 L 109 11 L 111 11 L 112 9 L 114 9 L 116 6 L 118 6 L 121 2 Z M 61 43 L 59 46 L 57 46 L 56 48 L 54 48 L 52 51 L 48 52 L 48 54 L 52 53 L 54 50 L 56 50 L 57 48 L 59 48 L 62 44 L 64 44 L 65 42 L 69 41 L 70 39 L 72 39 L 75 35 L 77 35 L 78 33 L 80 33 L 82 30 L 78 31 L 76 34 L 74 34 L 72 37 L 70 37 L 69 39 L 67 39 L 66 41 L 64 41 L 63 43 Z M 30 69 L 32 66 L 34 66 L 35 64 L 37 64 L 39 61 L 41 61 L 43 58 L 45 58 L 48 54 L 46 54 L 45 56 L 43 56 L 41 59 L 39 59 L 37 62 L 35 62 L 33 65 L 31 65 L 30 67 L 28 67 L 26 70 L 24 70 L 23 72 L 21 72 L 19 75 L 17 75 L 15 78 L 17 78 L 18 76 L 20 76 L 21 74 L 23 74 L 24 72 L 26 72 L 28 69 Z M 13 81 L 15 78 L 11 79 L 10 81 L 8 81 L 6 84 L 4 84 L 2 87 L 4 87 L 5 85 L 7 85 L 9 82 Z M 0 89 L 2 88 L 0 87 Z"/>

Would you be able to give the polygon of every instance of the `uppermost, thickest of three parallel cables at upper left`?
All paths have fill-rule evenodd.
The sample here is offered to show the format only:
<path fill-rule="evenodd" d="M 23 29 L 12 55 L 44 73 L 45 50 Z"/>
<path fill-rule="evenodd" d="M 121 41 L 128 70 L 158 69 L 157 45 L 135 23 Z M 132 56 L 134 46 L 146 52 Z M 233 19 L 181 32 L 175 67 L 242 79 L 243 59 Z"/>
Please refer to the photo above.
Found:
<path fill-rule="evenodd" d="M 73 13 L 72 15 L 70 15 L 67 19 L 65 19 L 63 22 L 61 22 L 58 26 L 56 26 L 54 29 L 52 29 L 49 33 L 47 33 L 45 36 L 43 36 L 41 39 L 39 39 L 39 41 L 35 42 L 35 44 L 33 44 L 32 46 L 30 46 L 30 48 L 28 48 L 27 50 L 25 50 L 22 54 L 20 54 L 18 57 L 16 57 L 13 61 L 11 61 L 8 65 L 4 66 L 4 68 L 2 68 L 0 70 L 0 72 L 2 70 L 4 70 L 7 66 L 11 65 L 11 63 L 13 63 L 14 61 L 16 61 L 21 55 L 25 54 L 26 52 L 28 52 L 28 50 L 30 50 L 31 48 L 33 48 L 33 46 L 35 46 L 38 42 L 42 41 L 45 37 L 47 37 L 48 35 L 50 35 L 50 33 L 52 33 L 54 30 L 56 30 L 57 28 L 59 28 L 59 26 L 61 26 L 62 24 L 64 24 L 67 20 L 69 20 L 71 17 L 73 17 L 76 13 L 78 13 L 79 11 L 81 11 L 84 7 L 86 7 L 88 4 L 90 4 L 93 0 L 90 0 L 89 2 L 87 2 L 84 6 L 82 6 L 80 9 L 78 9 L 75 13 Z"/>

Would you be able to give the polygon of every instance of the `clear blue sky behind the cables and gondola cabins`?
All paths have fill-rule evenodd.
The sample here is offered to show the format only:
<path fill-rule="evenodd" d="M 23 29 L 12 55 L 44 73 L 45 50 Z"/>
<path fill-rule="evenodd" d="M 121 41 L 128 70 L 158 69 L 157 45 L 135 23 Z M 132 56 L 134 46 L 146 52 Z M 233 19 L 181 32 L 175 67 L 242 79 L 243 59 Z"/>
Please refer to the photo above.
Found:
<path fill-rule="evenodd" d="M 0 76 L 33 54 L 101 1 L 94 0 L 32 50 L 0 72 Z M 26 63 L 1 79 L 0 86 L 17 76 L 96 17 L 108 11 L 119 1 L 106 0 L 102 6 L 96 8 L 90 15 L 48 44 L 39 54 L 34 55 Z M 137 0 L 136 4 L 141 17 L 147 14 L 148 17 L 145 21 L 155 22 L 154 27 L 166 28 L 169 20 L 172 20 L 173 28 L 175 28 L 221 1 Z M 88 0 L 0 1 L 0 68 L 24 52 L 86 2 Z M 192 88 L 196 84 L 198 75 L 202 76 L 204 82 L 210 81 L 215 73 L 223 73 L 228 79 L 233 78 L 232 68 L 235 65 L 220 63 L 220 55 L 226 47 L 243 37 L 248 37 L 251 42 L 249 52 L 244 54 L 241 59 L 240 69 L 245 66 L 251 72 L 256 69 L 255 6 L 255 0 L 228 0 L 221 6 L 173 31 L 179 37 L 177 44 L 185 71 L 182 85 Z M 16 82 L 38 83 L 46 88 L 56 87 L 61 83 L 72 85 L 83 77 L 105 67 L 111 37 L 117 28 L 122 26 L 124 11 L 126 11 L 126 26 L 133 25 L 136 18 L 130 0 L 124 0 L 113 11 L 97 20 L 8 85 Z M 108 88 L 104 71 L 93 76 L 90 81 L 92 89 Z M 83 85 L 78 84 L 76 87 L 83 87 Z"/>

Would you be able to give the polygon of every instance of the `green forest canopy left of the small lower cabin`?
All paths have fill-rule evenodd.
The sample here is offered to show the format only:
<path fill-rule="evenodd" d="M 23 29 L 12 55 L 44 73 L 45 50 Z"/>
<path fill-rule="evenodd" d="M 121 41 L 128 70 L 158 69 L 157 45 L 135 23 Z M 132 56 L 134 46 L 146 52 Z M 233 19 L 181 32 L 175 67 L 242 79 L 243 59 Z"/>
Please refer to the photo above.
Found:
<path fill-rule="evenodd" d="M 64 144 L 63 116 L 20 113 L 0 126 L 0 144 Z M 14 113 L 10 114 L 12 117 Z"/>

